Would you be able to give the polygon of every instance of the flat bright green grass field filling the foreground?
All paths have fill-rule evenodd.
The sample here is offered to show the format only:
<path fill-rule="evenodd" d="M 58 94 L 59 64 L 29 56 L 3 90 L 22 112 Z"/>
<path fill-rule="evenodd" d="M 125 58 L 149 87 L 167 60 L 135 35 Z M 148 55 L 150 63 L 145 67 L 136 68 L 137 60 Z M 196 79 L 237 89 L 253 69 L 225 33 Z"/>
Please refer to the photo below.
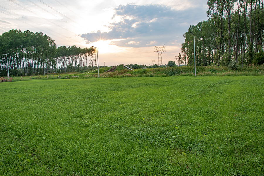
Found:
<path fill-rule="evenodd" d="M 264 76 L 0 83 L 0 175 L 263 175 Z"/>

